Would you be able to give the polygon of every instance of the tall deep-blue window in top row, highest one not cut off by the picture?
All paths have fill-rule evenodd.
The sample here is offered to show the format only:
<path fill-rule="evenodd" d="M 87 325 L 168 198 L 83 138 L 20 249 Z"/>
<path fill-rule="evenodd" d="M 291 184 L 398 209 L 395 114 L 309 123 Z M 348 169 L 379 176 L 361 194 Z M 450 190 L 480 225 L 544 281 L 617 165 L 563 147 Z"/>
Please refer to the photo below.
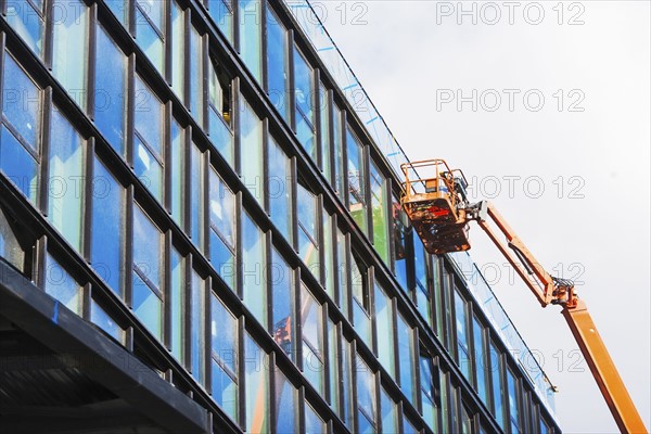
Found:
<path fill-rule="evenodd" d="M 280 114 L 290 119 L 288 30 L 267 7 L 267 92 Z"/>

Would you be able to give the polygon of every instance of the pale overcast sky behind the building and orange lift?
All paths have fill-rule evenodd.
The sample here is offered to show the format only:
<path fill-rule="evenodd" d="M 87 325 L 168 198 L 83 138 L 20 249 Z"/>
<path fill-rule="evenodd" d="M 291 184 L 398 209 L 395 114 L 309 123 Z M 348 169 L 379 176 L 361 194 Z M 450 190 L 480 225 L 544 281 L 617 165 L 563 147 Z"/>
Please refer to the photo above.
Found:
<path fill-rule="evenodd" d="M 552 275 L 578 281 L 649 426 L 649 2 L 464 1 L 465 15 L 456 1 L 312 3 L 407 155 L 462 168 L 471 199 L 492 199 Z M 487 237 L 471 237 L 560 388 L 561 427 L 616 432 L 560 309 L 510 285 Z"/>

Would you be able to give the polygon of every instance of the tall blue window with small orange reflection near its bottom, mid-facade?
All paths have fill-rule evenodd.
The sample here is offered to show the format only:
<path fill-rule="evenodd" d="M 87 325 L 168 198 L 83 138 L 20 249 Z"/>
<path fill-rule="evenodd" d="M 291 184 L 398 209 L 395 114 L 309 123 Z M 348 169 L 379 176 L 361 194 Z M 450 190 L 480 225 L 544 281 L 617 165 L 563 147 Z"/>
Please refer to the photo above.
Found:
<path fill-rule="evenodd" d="M 271 322 L 273 324 L 273 341 L 294 360 L 295 342 L 295 314 L 294 314 L 294 280 L 293 271 L 278 253 L 271 248 L 271 267 L 269 268 L 269 280 L 271 282 L 271 294 L 273 311 Z"/>

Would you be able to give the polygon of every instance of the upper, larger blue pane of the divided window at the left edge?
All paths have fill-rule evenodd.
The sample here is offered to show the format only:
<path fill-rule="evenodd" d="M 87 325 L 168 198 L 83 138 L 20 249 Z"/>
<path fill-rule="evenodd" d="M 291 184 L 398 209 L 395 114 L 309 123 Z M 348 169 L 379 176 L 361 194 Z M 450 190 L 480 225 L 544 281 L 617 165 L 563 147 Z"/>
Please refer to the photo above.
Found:
<path fill-rule="evenodd" d="M 39 152 L 40 90 L 9 54 L 4 55 L 3 69 L 2 114 L 23 140 Z"/>

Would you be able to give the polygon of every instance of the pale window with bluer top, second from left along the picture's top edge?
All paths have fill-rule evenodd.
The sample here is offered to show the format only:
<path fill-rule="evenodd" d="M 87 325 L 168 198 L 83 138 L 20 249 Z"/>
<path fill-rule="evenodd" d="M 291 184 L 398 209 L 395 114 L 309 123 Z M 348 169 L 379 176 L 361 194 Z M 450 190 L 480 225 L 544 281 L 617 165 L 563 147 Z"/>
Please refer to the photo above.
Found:
<path fill-rule="evenodd" d="M 88 90 L 88 7 L 80 0 L 54 0 L 52 4 L 52 74 L 82 108 Z"/>

